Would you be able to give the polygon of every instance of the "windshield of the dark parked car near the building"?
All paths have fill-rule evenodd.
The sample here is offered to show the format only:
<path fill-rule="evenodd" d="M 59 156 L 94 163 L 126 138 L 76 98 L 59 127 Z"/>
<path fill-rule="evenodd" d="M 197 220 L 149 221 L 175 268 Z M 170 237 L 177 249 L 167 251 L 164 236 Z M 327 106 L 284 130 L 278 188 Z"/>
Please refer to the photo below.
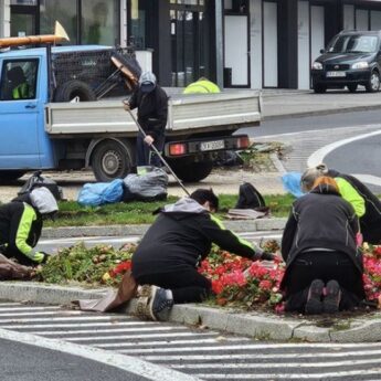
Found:
<path fill-rule="evenodd" d="M 328 45 L 328 53 L 372 53 L 377 51 L 377 35 L 338 35 Z"/>

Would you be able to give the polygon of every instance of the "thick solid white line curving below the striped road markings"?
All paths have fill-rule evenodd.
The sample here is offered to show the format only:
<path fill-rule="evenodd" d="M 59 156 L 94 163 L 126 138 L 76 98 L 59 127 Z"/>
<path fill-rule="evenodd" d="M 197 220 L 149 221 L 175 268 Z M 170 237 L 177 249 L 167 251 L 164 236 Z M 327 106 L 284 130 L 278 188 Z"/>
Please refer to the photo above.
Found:
<path fill-rule="evenodd" d="M 39 348 L 46 348 L 54 351 L 68 353 L 72 356 L 83 357 L 88 360 L 94 360 L 109 367 L 118 368 L 134 374 L 141 375 L 152 381 L 195 381 L 197 377 L 180 373 L 176 370 L 163 368 L 144 360 L 133 358 L 125 354 L 119 354 L 106 351 L 99 348 L 80 346 L 73 342 L 67 342 L 56 339 L 46 339 L 43 337 L 13 332 L 0 328 L 0 338 L 4 340 L 12 340 L 32 345 Z"/>

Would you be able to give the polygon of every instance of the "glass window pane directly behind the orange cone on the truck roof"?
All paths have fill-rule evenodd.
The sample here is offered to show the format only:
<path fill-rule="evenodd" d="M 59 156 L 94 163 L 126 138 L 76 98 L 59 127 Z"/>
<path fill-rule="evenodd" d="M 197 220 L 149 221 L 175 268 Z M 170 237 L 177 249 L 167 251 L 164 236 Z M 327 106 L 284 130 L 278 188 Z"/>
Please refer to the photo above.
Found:
<path fill-rule="evenodd" d="M 77 9 L 76 0 L 41 0 L 40 33 L 53 34 L 55 21 L 59 21 L 70 36 L 65 44 L 76 44 L 77 41 Z"/>

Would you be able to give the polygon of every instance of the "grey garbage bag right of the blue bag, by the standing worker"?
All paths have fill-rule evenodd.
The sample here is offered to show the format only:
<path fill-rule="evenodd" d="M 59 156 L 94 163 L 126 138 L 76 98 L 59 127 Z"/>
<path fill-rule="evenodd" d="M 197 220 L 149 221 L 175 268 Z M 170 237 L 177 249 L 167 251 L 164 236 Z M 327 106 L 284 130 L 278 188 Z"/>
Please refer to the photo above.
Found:
<path fill-rule="evenodd" d="M 126 201 L 162 200 L 167 198 L 168 174 L 160 168 L 151 167 L 144 174 L 128 174 L 124 180 Z"/>

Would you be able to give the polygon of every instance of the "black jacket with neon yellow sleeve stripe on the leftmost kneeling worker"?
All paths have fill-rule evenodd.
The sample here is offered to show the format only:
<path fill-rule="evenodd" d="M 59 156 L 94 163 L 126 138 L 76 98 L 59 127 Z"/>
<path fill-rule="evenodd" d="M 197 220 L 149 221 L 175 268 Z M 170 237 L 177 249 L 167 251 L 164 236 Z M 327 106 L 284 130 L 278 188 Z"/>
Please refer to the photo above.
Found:
<path fill-rule="evenodd" d="M 10 202 L 0 207 L 0 244 L 13 254 L 30 255 L 40 239 L 42 216 L 25 202 Z"/>

